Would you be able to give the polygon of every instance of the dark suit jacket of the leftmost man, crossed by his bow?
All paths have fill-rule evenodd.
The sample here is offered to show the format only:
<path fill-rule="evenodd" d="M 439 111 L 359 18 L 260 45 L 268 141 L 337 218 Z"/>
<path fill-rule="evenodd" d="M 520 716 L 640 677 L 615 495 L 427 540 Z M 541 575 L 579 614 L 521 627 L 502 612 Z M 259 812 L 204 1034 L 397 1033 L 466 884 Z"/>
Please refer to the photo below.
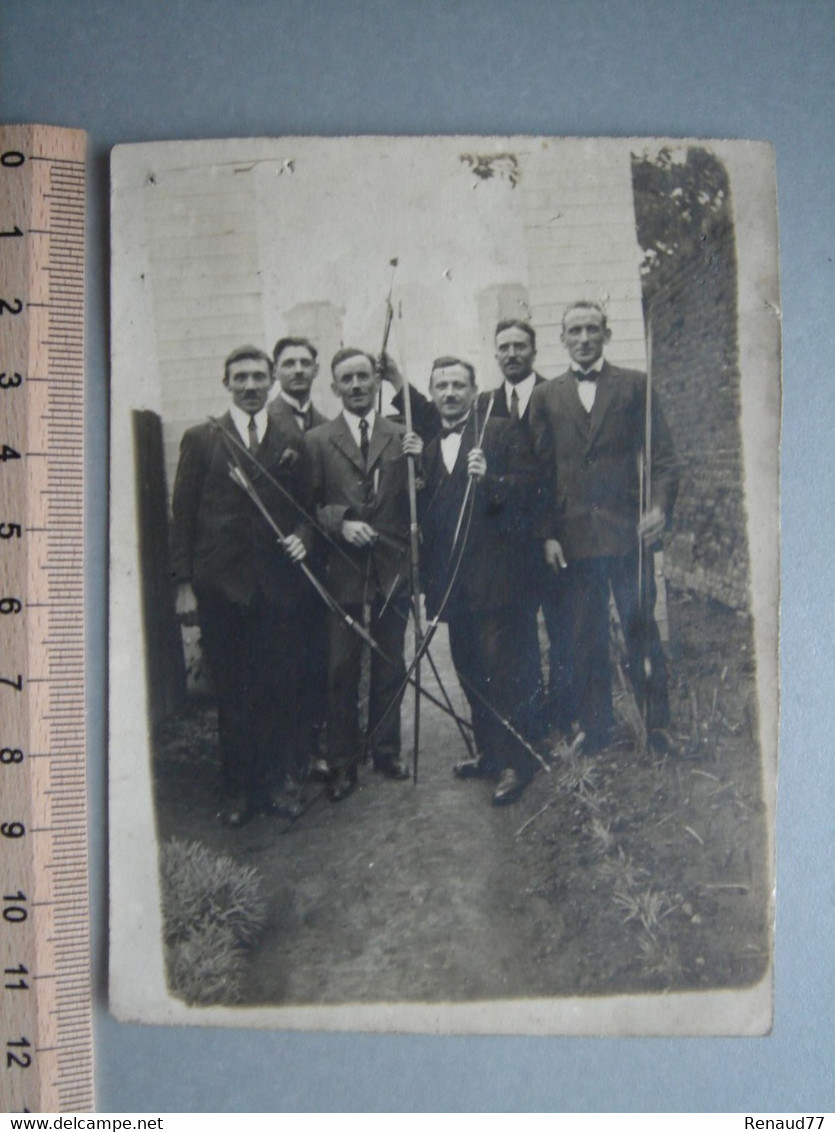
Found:
<path fill-rule="evenodd" d="M 222 429 L 240 439 L 232 415 Z M 295 426 L 294 426 L 295 428 Z M 299 434 L 267 423 L 258 461 L 304 509 L 309 507 L 310 477 Z M 180 445 L 172 500 L 172 573 L 206 594 L 249 602 L 260 589 L 274 603 L 292 606 L 310 583 L 276 546 L 269 524 L 243 488 L 230 479 L 231 453 L 236 453 L 252 486 L 284 534 L 299 534 L 305 543 L 310 530 L 299 509 L 248 462 L 212 422 L 188 429 Z"/>

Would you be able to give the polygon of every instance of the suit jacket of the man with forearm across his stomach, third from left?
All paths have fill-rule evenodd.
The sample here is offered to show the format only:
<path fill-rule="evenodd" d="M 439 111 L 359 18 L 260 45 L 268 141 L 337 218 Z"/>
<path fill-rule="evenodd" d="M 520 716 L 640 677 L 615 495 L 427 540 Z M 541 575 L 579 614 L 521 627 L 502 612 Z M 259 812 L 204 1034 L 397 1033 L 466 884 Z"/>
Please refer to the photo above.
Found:
<path fill-rule="evenodd" d="M 388 597 L 408 580 L 408 487 L 403 428 L 377 413 L 368 468 L 342 413 L 304 436 L 317 518 L 339 546 L 328 544 L 327 584 L 342 604 Z M 370 550 L 342 538 L 345 518 L 370 523 L 382 538 Z M 368 585 L 368 590 L 367 590 Z"/>

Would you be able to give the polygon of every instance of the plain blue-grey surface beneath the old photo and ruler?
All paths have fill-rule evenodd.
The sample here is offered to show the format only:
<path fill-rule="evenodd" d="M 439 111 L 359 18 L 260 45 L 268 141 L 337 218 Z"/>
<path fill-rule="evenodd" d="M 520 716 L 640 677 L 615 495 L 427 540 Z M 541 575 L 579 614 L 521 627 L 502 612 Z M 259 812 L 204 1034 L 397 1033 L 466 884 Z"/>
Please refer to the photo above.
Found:
<path fill-rule="evenodd" d="M 100 1110 L 835 1108 L 835 5 L 5 0 L 0 20 L 0 121 L 77 126 L 91 144 L 87 619 Z M 438 1038 L 117 1023 L 104 974 L 109 149 L 232 135 L 516 132 L 776 145 L 784 432 L 774 1034 Z"/>

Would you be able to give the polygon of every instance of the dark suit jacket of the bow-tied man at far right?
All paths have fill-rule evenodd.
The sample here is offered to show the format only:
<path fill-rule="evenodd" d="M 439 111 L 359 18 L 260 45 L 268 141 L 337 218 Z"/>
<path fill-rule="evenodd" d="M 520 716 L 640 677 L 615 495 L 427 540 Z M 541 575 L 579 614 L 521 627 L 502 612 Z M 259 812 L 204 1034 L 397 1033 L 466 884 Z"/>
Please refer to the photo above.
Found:
<path fill-rule="evenodd" d="M 631 554 L 638 544 L 639 465 L 644 445 L 646 375 L 604 362 L 591 415 L 570 370 L 534 389 L 531 435 L 550 480 L 542 528 L 566 558 Z M 670 431 L 652 398 L 652 501 L 668 518 L 679 474 Z"/>

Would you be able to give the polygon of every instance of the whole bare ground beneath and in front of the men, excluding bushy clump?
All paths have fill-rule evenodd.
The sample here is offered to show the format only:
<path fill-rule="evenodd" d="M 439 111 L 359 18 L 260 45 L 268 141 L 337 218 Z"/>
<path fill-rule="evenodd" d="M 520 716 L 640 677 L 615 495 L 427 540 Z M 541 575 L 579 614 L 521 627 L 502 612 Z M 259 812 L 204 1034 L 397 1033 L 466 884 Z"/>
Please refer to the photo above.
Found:
<path fill-rule="evenodd" d="M 679 757 L 653 762 L 625 722 L 609 751 L 558 755 L 503 809 L 490 805 L 490 783 L 453 778 L 463 745 L 430 705 L 418 786 L 362 767 L 361 789 L 338 805 L 311 787 L 291 827 L 258 817 L 229 830 L 216 817 L 214 713 L 198 705 L 171 721 L 155 758 L 161 838 L 255 865 L 270 895 L 242 1002 L 456 1002 L 761 978 L 769 902 L 750 621 L 680 593 L 670 617 Z M 404 743 L 411 721 L 408 702 Z"/>

